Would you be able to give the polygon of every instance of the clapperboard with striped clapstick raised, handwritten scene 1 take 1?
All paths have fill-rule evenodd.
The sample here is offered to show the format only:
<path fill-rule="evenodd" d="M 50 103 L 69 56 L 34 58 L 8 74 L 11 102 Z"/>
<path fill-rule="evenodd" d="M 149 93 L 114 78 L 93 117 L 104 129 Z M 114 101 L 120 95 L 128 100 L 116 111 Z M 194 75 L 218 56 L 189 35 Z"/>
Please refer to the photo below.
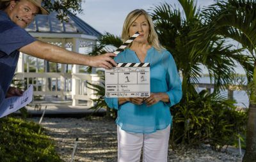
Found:
<path fill-rule="evenodd" d="M 140 33 L 136 32 L 114 53 L 119 54 Z M 145 98 L 150 96 L 150 64 L 118 63 L 111 70 L 105 70 L 105 96 L 107 98 Z"/>

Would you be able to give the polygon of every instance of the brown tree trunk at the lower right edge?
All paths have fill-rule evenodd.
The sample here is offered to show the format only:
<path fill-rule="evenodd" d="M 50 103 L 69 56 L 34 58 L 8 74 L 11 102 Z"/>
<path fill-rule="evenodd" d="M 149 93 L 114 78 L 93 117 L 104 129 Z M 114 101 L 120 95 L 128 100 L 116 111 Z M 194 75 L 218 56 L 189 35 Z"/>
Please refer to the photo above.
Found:
<path fill-rule="evenodd" d="M 250 103 L 243 162 L 256 161 L 256 103 Z"/>

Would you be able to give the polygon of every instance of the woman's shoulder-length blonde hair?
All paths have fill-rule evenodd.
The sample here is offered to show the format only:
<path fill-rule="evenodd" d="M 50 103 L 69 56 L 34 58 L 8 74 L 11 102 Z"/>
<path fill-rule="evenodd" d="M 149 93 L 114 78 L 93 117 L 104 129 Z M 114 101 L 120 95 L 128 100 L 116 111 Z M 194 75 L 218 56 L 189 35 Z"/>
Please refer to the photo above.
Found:
<path fill-rule="evenodd" d="M 129 37 L 130 37 L 129 36 L 129 28 L 132 26 L 132 23 L 138 17 L 140 17 L 140 15 L 145 15 L 145 17 L 148 20 L 148 24 L 149 24 L 148 43 L 149 43 L 149 45 L 152 45 L 152 47 L 156 48 L 156 50 L 158 50 L 158 51 L 163 50 L 164 48 L 160 45 L 156 30 L 154 29 L 154 24 L 153 24 L 152 18 L 150 17 L 150 15 L 148 15 L 147 11 L 142 10 L 142 9 L 140 9 L 140 10 L 137 9 L 137 10 L 131 11 L 125 18 L 123 31 L 122 31 L 122 37 L 121 37 L 123 43 L 129 39 Z M 131 45 L 129 45 L 129 47 L 130 46 Z"/>

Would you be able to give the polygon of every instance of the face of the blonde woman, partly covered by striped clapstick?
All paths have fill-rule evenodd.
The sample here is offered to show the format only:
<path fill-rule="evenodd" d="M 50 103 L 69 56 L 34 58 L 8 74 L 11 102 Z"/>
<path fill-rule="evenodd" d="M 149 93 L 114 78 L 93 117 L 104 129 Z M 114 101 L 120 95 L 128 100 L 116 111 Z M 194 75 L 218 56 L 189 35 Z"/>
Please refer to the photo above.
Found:
<path fill-rule="evenodd" d="M 149 24 L 145 15 L 140 15 L 129 28 L 129 36 L 132 36 L 137 31 L 140 33 L 134 41 L 138 43 L 148 43 Z"/>

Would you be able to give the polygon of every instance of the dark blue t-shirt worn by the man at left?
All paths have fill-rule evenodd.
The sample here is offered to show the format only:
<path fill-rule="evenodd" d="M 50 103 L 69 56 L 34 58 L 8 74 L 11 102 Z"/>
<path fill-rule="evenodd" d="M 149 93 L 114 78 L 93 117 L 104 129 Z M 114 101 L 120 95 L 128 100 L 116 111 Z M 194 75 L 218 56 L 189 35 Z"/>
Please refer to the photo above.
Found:
<path fill-rule="evenodd" d="M 19 48 L 36 41 L 0 10 L 0 108 L 12 82 L 19 59 Z"/>

